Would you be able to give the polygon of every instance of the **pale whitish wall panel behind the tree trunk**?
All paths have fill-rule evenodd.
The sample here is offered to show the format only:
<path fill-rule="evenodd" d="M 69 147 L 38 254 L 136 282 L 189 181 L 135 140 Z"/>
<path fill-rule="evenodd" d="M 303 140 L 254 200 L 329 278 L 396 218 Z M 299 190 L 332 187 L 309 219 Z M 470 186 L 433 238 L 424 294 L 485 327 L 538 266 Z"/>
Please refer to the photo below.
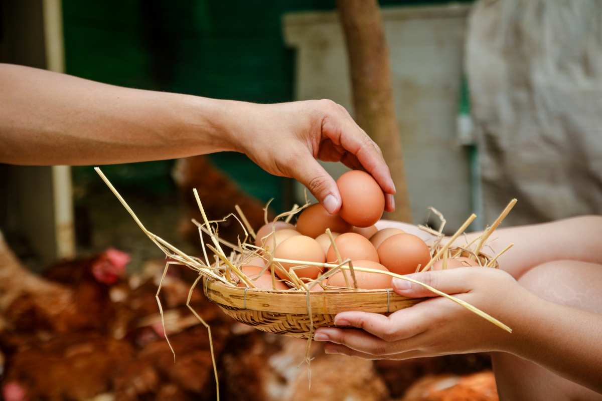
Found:
<path fill-rule="evenodd" d="M 468 7 L 383 9 L 412 213 L 444 213 L 458 227 L 471 213 L 467 153 L 456 133 Z M 337 15 L 294 13 L 285 40 L 297 50 L 296 98 L 329 98 L 352 111 L 343 32 Z M 352 113 L 353 114 L 353 113 Z M 344 167 L 324 164 L 336 177 Z M 297 183 L 296 197 L 303 199 Z"/>

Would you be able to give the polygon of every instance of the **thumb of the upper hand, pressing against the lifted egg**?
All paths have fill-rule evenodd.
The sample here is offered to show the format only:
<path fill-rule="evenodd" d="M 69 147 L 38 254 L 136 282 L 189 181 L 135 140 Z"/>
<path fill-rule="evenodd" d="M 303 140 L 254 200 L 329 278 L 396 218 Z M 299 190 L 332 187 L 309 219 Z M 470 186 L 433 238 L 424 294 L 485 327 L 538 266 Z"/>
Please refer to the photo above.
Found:
<path fill-rule="evenodd" d="M 296 163 L 293 177 L 309 189 L 328 213 L 334 215 L 341 209 L 341 194 L 337 183 L 314 158 Z"/>

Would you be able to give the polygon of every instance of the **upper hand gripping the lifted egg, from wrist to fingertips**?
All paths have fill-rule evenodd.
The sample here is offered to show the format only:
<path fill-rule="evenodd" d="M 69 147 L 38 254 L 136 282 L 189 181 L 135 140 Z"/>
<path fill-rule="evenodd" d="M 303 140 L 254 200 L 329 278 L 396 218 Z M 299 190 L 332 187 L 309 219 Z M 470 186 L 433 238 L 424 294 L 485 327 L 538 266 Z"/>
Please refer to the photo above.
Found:
<path fill-rule="evenodd" d="M 330 213 L 341 207 L 337 183 L 317 160 L 343 162 L 370 173 L 385 192 L 385 210 L 395 209 L 395 186 L 380 148 L 331 100 L 260 105 L 237 102 L 229 116 L 235 150 L 268 173 L 305 185 Z"/>

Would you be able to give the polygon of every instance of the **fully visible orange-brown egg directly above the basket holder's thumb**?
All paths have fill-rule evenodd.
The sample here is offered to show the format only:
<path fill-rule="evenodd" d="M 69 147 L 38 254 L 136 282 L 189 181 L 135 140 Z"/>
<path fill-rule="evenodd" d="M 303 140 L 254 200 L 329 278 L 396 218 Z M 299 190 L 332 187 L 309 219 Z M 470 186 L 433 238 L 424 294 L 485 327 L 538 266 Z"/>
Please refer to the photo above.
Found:
<path fill-rule="evenodd" d="M 412 234 L 397 234 L 385 239 L 377 249 L 380 263 L 397 274 L 410 274 L 430 260 L 429 246 Z"/>

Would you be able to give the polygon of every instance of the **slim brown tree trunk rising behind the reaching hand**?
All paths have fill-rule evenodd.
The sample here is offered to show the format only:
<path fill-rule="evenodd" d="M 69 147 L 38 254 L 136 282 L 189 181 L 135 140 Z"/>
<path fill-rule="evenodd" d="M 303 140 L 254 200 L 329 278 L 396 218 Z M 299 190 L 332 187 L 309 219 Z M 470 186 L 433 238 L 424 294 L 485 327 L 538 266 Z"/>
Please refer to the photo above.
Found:
<path fill-rule="evenodd" d="M 349 54 L 355 119 L 382 149 L 397 188 L 389 218 L 412 222 L 397 128 L 389 51 L 376 0 L 337 0 Z"/>

